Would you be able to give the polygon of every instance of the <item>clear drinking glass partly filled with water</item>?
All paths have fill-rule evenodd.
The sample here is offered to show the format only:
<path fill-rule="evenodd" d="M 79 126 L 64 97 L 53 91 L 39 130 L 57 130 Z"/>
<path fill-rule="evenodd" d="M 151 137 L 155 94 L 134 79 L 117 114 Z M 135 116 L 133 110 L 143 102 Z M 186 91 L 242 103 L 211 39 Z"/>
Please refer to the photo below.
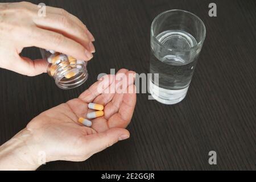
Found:
<path fill-rule="evenodd" d="M 165 11 L 151 24 L 149 90 L 155 100 L 176 104 L 185 98 L 206 30 L 188 11 Z"/>

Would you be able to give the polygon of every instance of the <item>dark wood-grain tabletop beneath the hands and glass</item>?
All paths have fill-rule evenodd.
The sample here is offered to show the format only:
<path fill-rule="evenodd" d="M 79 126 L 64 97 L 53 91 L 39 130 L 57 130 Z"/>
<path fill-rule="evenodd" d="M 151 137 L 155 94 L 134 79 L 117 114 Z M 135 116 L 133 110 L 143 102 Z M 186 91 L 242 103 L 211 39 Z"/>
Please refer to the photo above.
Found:
<path fill-rule="evenodd" d="M 214 18 L 208 16 L 212 1 L 34 1 L 40 2 L 62 7 L 93 32 L 96 53 L 88 65 L 89 79 L 79 88 L 61 90 L 47 74 L 27 77 L 0 69 L 0 144 L 42 111 L 79 96 L 99 73 L 110 68 L 147 73 L 152 20 L 162 11 L 183 9 L 198 15 L 207 27 L 185 100 L 163 105 L 138 94 L 129 140 L 85 162 L 51 162 L 39 169 L 256 169 L 254 0 L 214 1 Z M 25 49 L 23 55 L 40 57 L 37 48 Z M 212 150 L 217 165 L 211 166 Z"/>

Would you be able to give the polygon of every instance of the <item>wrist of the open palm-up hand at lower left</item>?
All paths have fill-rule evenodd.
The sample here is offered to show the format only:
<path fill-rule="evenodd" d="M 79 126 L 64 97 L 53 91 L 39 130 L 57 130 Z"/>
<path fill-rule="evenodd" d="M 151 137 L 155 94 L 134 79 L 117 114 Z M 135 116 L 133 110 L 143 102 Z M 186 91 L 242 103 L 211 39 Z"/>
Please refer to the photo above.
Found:
<path fill-rule="evenodd" d="M 23 129 L 0 146 L 0 170 L 35 170 L 44 163 L 40 151 L 31 132 Z"/>

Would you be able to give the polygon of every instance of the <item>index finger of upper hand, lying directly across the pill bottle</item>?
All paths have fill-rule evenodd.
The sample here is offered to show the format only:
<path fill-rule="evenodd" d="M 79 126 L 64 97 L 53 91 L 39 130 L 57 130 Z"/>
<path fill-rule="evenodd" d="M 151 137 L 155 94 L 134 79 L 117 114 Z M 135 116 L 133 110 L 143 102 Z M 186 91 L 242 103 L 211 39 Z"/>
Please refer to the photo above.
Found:
<path fill-rule="evenodd" d="M 79 60 L 90 60 L 93 55 L 84 46 L 72 39 L 53 31 L 35 28 L 32 35 L 26 40 L 28 46 L 36 46 L 44 49 L 55 50 L 66 55 L 71 55 Z"/>

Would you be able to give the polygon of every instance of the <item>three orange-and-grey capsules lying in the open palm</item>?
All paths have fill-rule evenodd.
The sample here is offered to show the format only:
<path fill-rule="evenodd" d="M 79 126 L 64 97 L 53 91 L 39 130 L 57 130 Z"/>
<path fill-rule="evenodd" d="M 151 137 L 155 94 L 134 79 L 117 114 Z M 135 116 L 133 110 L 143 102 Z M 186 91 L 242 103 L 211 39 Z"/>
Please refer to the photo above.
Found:
<path fill-rule="evenodd" d="M 94 118 L 98 118 L 98 117 L 102 117 L 104 115 L 104 106 L 100 105 L 100 104 L 95 104 L 90 102 L 88 104 L 88 108 L 89 109 L 93 109 L 93 110 L 97 110 L 97 111 L 93 111 L 90 113 L 86 114 L 86 119 L 85 118 L 79 118 L 79 123 L 81 123 L 84 126 L 92 126 L 92 121 L 90 121 L 89 119 L 94 119 Z"/>

